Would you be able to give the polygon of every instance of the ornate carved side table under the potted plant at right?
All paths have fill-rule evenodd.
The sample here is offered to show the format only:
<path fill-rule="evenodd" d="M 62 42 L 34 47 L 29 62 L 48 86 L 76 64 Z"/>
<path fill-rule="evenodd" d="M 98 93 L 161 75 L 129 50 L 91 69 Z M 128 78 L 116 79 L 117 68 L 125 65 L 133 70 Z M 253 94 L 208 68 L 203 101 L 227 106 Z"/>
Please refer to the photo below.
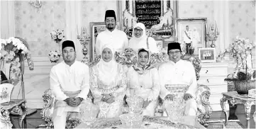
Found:
<path fill-rule="evenodd" d="M 221 99 L 221 108 L 222 111 L 225 113 L 225 125 L 228 124 L 228 111 L 224 106 L 225 101 L 230 101 L 231 104 L 235 105 L 238 103 L 242 103 L 245 106 L 245 114 L 247 120 L 247 128 L 250 128 L 250 111 L 252 105 L 255 105 L 256 100 L 254 98 L 248 97 L 248 95 L 240 95 L 236 91 L 230 91 L 222 93 L 223 98 Z"/>

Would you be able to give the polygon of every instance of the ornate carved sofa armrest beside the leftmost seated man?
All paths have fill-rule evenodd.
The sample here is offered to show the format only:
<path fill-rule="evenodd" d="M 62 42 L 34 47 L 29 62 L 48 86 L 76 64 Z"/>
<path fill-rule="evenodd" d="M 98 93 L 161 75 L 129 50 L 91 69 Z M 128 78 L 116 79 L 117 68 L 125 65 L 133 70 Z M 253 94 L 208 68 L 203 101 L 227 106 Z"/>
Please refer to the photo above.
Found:
<path fill-rule="evenodd" d="M 47 128 L 53 128 L 53 121 L 52 121 L 52 113 L 53 107 L 55 103 L 55 97 L 52 95 L 50 89 L 47 89 L 43 94 L 43 101 L 45 102 L 45 106 L 41 111 L 42 119 L 45 120 L 45 125 Z"/>

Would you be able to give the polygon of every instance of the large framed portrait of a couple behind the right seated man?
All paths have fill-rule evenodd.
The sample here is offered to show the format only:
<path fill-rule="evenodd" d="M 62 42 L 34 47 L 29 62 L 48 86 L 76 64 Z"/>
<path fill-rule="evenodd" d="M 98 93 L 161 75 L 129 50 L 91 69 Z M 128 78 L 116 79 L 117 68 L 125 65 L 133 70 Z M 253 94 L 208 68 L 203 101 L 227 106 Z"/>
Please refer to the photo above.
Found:
<path fill-rule="evenodd" d="M 199 55 L 199 48 L 206 47 L 206 21 L 207 18 L 177 19 L 176 38 L 177 42 L 182 44 L 182 50 L 186 50 L 186 44 L 189 42 L 194 47 L 193 55 Z"/>

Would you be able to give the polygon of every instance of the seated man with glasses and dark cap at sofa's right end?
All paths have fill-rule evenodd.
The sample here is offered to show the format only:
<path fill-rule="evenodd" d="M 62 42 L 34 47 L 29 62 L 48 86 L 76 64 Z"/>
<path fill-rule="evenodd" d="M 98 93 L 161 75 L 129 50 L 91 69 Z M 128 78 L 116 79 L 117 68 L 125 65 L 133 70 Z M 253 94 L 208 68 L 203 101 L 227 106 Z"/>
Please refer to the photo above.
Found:
<path fill-rule="evenodd" d="M 184 116 L 193 116 L 193 118 L 196 118 L 197 106 L 195 98 L 197 82 L 194 66 L 191 62 L 181 60 L 182 50 L 179 43 L 169 43 L 167 52 L 169 55 L 169 62 L 162 64 L 159 68 L 161 84 L 160 97 L 167 101 L 174 100 L 175 96 L 172 94 L 173 91 L 169 91 L 169 87 L 166 87 L 166 84 L 169 84 L 170 86 L 189 86 L 183 96 L 183 99 L 186 101 Z M 194 123 L 191 123 L 190 125 L 194 125 Z"/>

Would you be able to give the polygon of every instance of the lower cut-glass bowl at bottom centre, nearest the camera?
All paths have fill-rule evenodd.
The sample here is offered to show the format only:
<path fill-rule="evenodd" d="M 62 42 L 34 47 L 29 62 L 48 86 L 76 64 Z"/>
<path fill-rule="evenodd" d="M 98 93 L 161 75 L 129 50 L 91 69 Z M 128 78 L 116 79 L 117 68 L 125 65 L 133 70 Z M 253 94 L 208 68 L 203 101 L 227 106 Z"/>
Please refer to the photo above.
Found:
<path fill-rule="evenodd" d="M 119 116 L 123 128 L 140 128 L 143 123 L 143 115 L 139 113 L 125 113 Z"/>

